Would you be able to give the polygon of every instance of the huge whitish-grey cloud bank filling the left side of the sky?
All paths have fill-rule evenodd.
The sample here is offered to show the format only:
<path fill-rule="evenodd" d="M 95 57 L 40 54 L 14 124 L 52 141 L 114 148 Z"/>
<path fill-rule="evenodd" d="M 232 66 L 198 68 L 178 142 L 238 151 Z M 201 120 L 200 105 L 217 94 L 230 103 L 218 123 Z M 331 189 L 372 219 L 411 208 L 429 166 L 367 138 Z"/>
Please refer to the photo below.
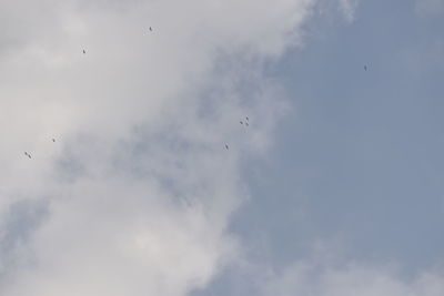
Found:
<path fill-rule="evenodd" d="M 312 4 L 2 1 L 0 294 L 205 285 L 283 112 L 262 62 L 300 44 Z"/>

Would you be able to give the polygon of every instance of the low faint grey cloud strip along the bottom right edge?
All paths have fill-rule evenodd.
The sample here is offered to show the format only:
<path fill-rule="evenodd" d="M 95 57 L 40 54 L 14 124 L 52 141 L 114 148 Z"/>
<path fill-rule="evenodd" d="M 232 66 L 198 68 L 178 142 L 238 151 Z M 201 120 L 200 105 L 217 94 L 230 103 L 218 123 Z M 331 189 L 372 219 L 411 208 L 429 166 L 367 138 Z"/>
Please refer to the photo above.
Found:
<path fill-rule="evenodd" d="M 436 272 L 403 279 L 392 267 L 302 262 L 275 275 L 263 292 L 276 296 L 438 296 L 444 293 L 444 276 Z"/>

